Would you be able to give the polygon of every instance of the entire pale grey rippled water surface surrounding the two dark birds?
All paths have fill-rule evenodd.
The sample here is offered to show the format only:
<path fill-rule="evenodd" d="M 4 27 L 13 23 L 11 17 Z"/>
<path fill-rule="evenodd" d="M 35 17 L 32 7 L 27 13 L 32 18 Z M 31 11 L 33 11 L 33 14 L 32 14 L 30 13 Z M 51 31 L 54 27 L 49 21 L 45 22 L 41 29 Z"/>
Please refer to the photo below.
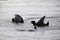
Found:
<path fill-rule="evenodd" d="M 12 23 L 14 14 L 25 23 Z M 37 22 L 44 15 L 49 26 L 35 30 L 31 20 Z M 60 40 L 60 0 L 0 1 L 0 40 Z"/>

